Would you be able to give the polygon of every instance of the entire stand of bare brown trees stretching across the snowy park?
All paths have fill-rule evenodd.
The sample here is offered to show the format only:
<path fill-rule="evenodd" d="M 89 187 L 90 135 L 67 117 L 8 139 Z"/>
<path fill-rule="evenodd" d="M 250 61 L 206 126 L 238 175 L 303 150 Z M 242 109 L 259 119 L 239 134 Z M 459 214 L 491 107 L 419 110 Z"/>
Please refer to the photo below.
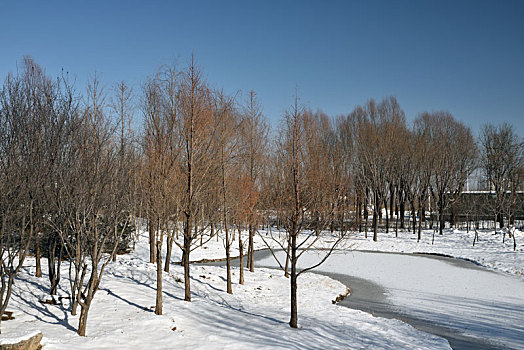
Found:
<path fill-rule="evenodd" d="M 143 124 L 133 131 L 138 111 Z M 296 94 L 271 136 L 255 92 L 237 99 L 212 88 L 193 58 L 161 67 L 138 91 L 125 82 L 106 91 L 95 74 L 85 94 L 67 74 L 53 80 L 24 58 L 0 90 L 0 137 L 0 314 L 25 257 L 35 255 L 41 276 L 44 256 L 53 301 L 60 268 L 69 264 L 80 335 L 106 266 L 137 239 L 142 222 L 159 315 L 173 249 L 181 251 L 191 301 L 191 251 L 223 241 L 232 293 L 233 242 L 243 284 L 244 253 L 254 271 L 258 229 L 281 229 L 262 238 L 286 253 L 279 264 L 290 277 L 290 326 L 297 327 L 297 278 L 348 232 L 367 238 L 371 225 L 377 241 L 381 226 L 396 234 L 409 228 L 420 239 L 429 213 L 442 234 L 446 213 L 478 168 L 494 190 L 500 225 L 523 205 L 514 195 L 522 190 L 523 144 L 507 124 L 486 126 L 477 144 L 445 111 L 424 112 L 408 126 L 387 97 L 330 118 L 304 108 Z M 333 239 L 325 254 L 299 270 L 299 258 L 326 234 Z"/>

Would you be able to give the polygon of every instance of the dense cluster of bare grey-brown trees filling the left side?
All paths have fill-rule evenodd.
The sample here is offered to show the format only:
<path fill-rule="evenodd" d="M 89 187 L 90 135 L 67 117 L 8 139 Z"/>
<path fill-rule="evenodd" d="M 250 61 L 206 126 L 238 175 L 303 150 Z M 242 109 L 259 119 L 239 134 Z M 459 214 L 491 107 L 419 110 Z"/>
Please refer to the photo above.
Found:
<path fill-rule="evenodd" d="M 104 269 L 130 231 L 134 150 L 115 137 L 96 76 L 79 100 L 67 76 L 52 80 L 25 58 L 5 80 L 0 106 L 0 311 L 30 250 L 41 276 L 43 250 L 53 301 L 61 262 L 70 264 L 71 313 L 80 305 L 85 335 Z"/>

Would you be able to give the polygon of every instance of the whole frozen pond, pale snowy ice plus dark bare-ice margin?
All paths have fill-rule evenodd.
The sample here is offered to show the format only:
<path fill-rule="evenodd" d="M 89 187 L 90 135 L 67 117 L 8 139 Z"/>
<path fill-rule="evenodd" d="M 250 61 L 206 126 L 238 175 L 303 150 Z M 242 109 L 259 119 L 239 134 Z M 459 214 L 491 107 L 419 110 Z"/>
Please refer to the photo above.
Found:
<path fill-rule="evenodd" d="M 319 254 L 305 254 L 299 265 Z M 257 264 L 277 266 L 268 252 L 258 253 Z M 352 289 L 341 305 L 403 320 L 448 339 L 453 348 L 524 348 L 520 276 L 452 258 L 362 251 L 334 254 L 315 271 Z"/>

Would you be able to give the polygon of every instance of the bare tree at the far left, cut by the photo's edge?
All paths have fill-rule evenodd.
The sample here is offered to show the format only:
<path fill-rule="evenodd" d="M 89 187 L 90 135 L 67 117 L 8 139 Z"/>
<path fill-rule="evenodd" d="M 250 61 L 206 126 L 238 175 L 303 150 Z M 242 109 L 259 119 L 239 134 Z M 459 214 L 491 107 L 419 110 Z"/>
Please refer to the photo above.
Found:
<path fill-rule="evenodd" d="M 42 124 L 33 67 L 26 60 L 22 74 L 9 74 L 0 91 L 0 315 L 7 308 L 35 230 L 38 187 L 30 174 L 38 157 Z"/>

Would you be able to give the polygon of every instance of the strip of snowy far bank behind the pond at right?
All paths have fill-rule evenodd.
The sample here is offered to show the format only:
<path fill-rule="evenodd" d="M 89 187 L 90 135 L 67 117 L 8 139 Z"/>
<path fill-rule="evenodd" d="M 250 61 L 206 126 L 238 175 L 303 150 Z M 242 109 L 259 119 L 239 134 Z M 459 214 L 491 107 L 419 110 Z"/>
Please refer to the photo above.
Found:
<path fill-rule="evenodd" d="M 513 250 L 513 239 L 506 234 L 502 243 L 502 231 L 494 234 L 493 230 L 478 231 L 479 241 L 473 246 L 475 233 L 471 230 L 446 229 L 443 235 L 433 231 L 422 231 L 420 242 L 412 232 L 402 231 L 395 237 L 394 232 L 379 232 L 378 242 L 373 242 L 372 232 L 365 239 L 364 232 L 355 232 L 350 242 L 354 250 L 371 250 L 381 252 L 433 253 L 473 261 L 492 270 L 510 274 L 524 274 L 524 233 L 515 231 L 517 248 Z"/>

